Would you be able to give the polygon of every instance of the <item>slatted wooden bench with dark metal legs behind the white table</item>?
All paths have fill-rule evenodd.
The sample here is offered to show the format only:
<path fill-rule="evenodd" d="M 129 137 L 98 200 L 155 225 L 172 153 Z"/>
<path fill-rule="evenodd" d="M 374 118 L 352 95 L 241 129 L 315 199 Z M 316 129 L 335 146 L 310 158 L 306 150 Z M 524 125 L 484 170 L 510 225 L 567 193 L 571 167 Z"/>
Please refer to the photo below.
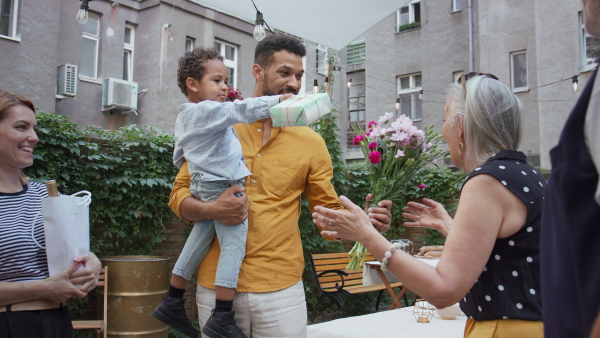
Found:
<path fill-rule="evenodd" d="M 376 259 L 370 252 L 367 253 L 367 257 L 365 259 L 366 262 L 375 260 Z M 321 295 L 317 300 L 317 305 L 313 310 L 311 319 L 313 323 L 315 321 L 317 309 L 325 297 L 335 298 L 340 304 L 342 316 L 345 317 L 346 313 L 344 311 L 344 300 L 340 297 L 340 294 L 355 295 L 379 291 L 377 303 L 375 305 L 375 311 L 379 310 L 381 295 L 383 294 L 383 291 L 387 290 L 385 284 L 381 283 L 375 285 L 363 285 L 363 267 L 361 267 L 359 270 L 347 271 L 346 266 L 349 262 L 350 258 L 348 258 L 347 252 L 310 254 L 310 263 L 312 265 L 314 277 L 319 291 L 321 292 Z M 404 285 L 401 282 L 390 283 L 390 286 L 392 288 L 404 288 Z"/>

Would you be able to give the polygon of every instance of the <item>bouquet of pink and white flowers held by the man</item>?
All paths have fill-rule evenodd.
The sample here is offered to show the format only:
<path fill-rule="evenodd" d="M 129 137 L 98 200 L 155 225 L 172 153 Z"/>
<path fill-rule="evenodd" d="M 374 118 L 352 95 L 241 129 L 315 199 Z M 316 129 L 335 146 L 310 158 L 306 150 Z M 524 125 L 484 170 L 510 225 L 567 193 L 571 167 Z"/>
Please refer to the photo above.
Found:
<path fill-rule="evenodd" d="M 432 126 L 423 131 L 406 115 L 391 122 L 393 117 L 393 113 L 385 113 L 379 121 L 369 122 L 366 132 L 353 126 L 357 135 L 353 142 L 360 146 L 367 160 L 374 205 L 382 200 L 399 202 L 417 170 L 442 153 L 437 147 L 442 136 Z M 348 253 L 351 259 L 346 269 L 360 268 L 366 253 L 365 247 L 356 242 Z"/>

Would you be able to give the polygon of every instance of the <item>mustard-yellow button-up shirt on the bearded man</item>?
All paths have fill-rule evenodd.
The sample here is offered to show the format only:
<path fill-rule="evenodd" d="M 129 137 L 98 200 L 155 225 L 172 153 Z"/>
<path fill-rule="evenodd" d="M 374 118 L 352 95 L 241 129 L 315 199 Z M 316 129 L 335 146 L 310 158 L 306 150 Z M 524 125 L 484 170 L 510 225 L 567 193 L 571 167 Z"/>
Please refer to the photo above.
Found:
<path fill-rule="evenodd" d="M 246 194 L 250 202 L 246 256 L 238 278 L 238 292 L 272 292 L 302 279 L 304 257 L 298 219 L 300 196 L 311 211 L 321 205 L 342 209 L 331 185 L 333 168 L 323 138 L 308 127 L 271 130 L 263 145 L 262 122 L 234 126 L 248 169 Z M 177 174 L 169 206 L 181 217 L 181 202 L 191 196 L 187 163 Z M 217 238 L 198 268 L 198 283 L 214 288 L 220 247 Z"/>

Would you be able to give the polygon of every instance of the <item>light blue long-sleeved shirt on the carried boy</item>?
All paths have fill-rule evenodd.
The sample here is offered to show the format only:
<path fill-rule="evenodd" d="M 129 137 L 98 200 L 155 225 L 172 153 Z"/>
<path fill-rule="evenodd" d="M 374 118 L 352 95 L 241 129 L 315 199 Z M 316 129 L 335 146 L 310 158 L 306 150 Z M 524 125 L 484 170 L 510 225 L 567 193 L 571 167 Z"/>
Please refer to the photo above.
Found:
<path fill-rule="evenodd" d="M 181 168 L 185 159 L 190 173 L 200 174 L 203 181 L 239 180 L 250 175 L 232 126 L 270 117 L 269 108 L 279 103 L 279 96 L 180 105 L 173 163 Z"/>

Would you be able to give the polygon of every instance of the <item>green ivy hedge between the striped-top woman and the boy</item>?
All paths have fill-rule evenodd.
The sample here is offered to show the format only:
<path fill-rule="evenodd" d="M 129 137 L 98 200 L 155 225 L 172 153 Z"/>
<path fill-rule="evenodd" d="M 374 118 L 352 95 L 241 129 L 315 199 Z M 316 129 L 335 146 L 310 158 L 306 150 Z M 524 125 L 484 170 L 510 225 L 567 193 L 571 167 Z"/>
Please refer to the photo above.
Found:
<path fill-rule="evenodd" d="M 167 206 L 177 172 L 173 137 L 129 125 L 115 131 L 79 128 L 68 118 L 39 113 L 34 181 L 57 181 L 62 194 L 92 192 L 90 245 L 98 256 L 156 253 L 173 219 Z"/>

